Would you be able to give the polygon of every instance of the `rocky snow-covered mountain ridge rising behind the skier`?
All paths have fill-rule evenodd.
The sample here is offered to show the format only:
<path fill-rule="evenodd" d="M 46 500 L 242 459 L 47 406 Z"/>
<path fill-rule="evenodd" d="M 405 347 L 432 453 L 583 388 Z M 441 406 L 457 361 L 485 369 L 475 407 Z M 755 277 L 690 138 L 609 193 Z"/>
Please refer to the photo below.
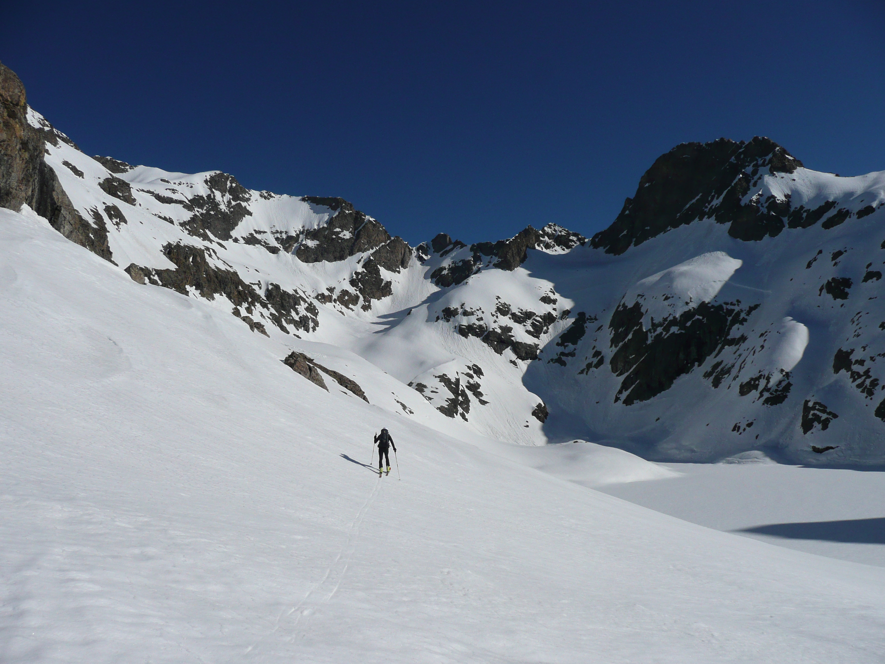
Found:
<path fill-rule="evenodd" d="M 590 239 L 543 217 L 412 247 L 342 198 L 89 157 L 2 66 L 0 84 L 0 205 L 239 318 L 326 389 L 522 444 L 885 462 L 885 172 L 685 143 Z"/>

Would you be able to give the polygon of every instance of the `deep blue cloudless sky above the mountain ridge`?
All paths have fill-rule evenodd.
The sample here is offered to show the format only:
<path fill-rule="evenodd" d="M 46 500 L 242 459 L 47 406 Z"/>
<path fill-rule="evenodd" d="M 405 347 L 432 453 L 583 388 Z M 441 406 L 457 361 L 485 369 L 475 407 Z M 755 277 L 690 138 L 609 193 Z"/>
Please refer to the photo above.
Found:
<path fill-rule="evenodd" d="M 15 3 L 0 61 L 89 154 L 341 196 L 418 243 L 606 227 L 659 154 L 885 169 L 885 2 Z"/>

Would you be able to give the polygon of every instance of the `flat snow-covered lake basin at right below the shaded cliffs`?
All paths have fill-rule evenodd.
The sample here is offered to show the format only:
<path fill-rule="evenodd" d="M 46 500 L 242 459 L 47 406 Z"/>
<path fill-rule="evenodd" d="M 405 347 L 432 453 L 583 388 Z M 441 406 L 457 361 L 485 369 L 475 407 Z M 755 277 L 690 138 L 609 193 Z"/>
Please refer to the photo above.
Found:
<path fill-rule="evenodd" d="M 602 490 L 707 528 L 885 567 L 881 468 L 797 467 L 746 458 L 667 468 L 678 475 Z"/>

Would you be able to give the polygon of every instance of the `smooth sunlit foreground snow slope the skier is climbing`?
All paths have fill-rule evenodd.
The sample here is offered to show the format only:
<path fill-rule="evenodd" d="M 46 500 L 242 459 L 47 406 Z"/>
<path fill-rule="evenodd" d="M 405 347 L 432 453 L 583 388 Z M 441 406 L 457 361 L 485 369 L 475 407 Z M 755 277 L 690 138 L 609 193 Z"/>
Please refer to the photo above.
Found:
<path fill-rule="evenodd" d="M 413 390 L 383 400 L 402 382 L 357 355 L 135 283 L 27 209 L 0 211 L 0 320 L 4 662 L 882 660 L 885 569 L 567 481 L 585 451 L 606 483 L 605 453 L 547 448 L 572 457 L 558 477 Z M 366 466 L 381 426 L 402 481 Z M 615 452 L 610 479 L 670 472 Z"/>

